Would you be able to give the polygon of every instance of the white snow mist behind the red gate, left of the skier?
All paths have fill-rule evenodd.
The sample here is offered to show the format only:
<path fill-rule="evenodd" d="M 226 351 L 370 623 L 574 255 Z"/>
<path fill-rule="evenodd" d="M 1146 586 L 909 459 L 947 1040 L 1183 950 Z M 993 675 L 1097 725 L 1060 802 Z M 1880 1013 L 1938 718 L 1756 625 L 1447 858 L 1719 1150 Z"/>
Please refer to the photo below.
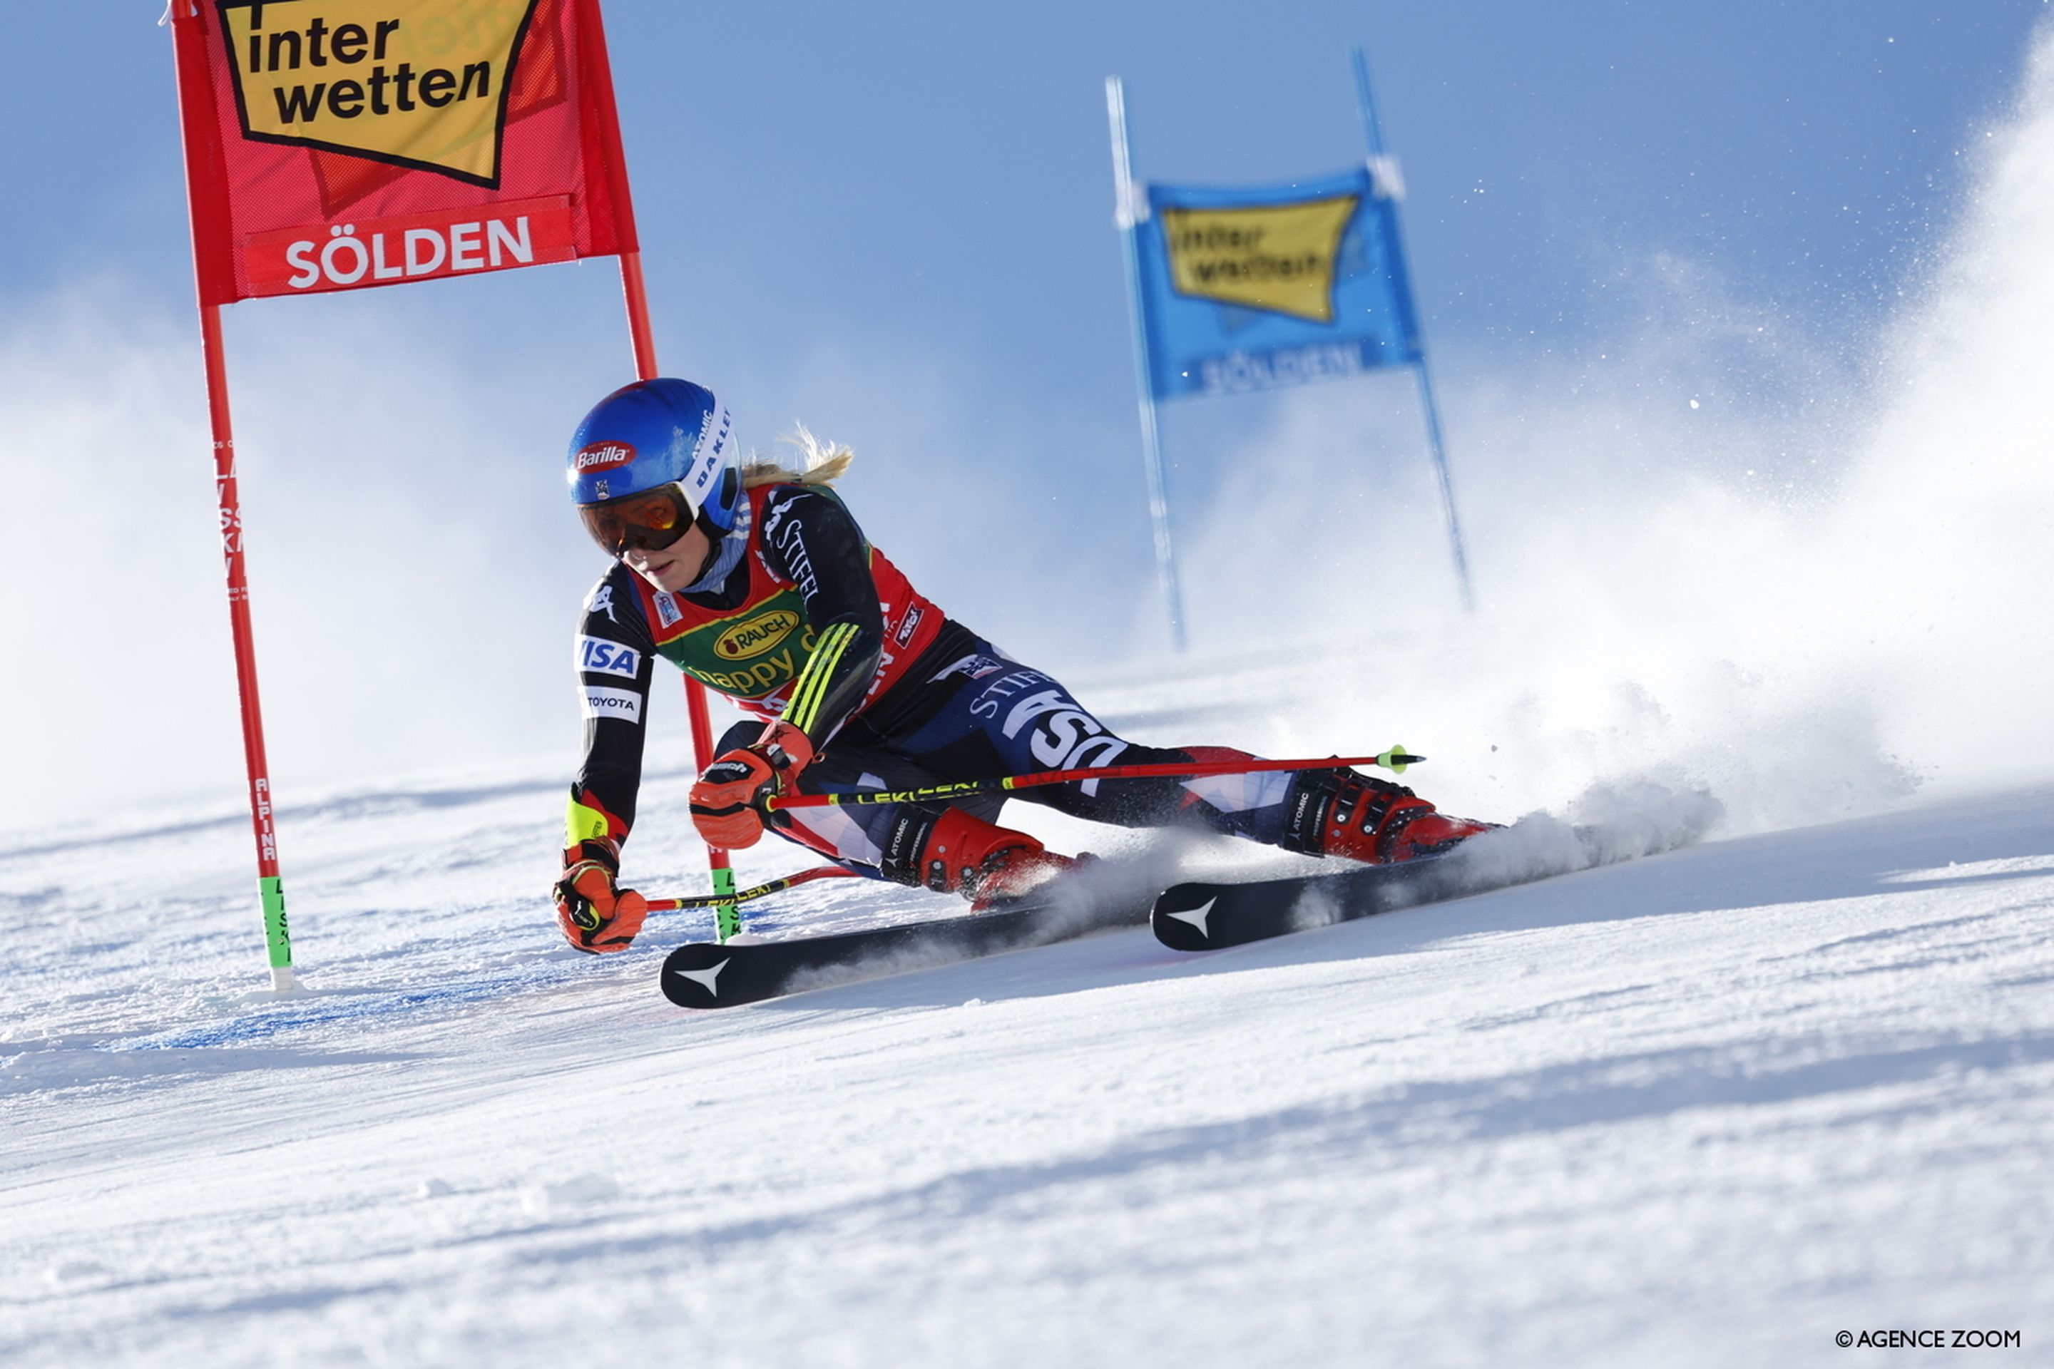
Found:
<path fill-rule="evenodd" d="M 228 351 L 277 792 L 573 761 L 567 638 L 602 569 L 563 509 L 575 410 L 520 384 L 481 402 L 485 378 L 442 339 L 298 304 L 232 314 Z M 191 320 L 72 296 L 0 349 L 0 632 L 21 649 L 0 683 L 0 823 L 232 811 L 240 714 Z"/>

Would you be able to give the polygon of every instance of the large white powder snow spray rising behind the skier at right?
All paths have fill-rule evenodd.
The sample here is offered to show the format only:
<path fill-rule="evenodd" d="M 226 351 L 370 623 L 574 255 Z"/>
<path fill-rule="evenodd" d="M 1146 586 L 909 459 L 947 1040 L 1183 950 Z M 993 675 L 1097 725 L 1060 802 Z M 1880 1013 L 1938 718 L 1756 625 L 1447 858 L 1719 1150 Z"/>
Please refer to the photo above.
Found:
<path fill-rule="evenodd" d="M 1688 263 L 1623 269 L 1633 326 L 1446 396 L 1473 620 L 1409 406 L 1292 396 L 1191 538 L 1200 642 L 1325 642 L 1298 669 L 1325 704 L 1267 745 L 1399 735 L 1489 817 L 1656 778 L 1750 829 L 2046 774 L 2050 236 L 2042 39 L 1943 269 L 1859 365 Z"/>

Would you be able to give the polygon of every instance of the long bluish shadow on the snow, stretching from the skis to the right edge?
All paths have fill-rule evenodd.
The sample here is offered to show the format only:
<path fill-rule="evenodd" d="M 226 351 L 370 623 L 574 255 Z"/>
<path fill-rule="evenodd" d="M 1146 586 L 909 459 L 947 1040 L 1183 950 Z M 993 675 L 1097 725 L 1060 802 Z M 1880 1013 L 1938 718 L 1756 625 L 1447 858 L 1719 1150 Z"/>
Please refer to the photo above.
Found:
<path fill-rule="evenodd" d="M 972 1000 L 1045 998 L 1181 975 L 1239 975 L 1405 954 L 1458 936 L 1707 913 L 1777 909 L 1931 889 L 2048 878 L 2054 866 L 1964 870 L 1992 860 L 2054 858 L 2054 790 L 2033 788 L 1826 827 L 1711 842 L 1538 885 L 1380 913 L 1237 950 L 1181 954 L 1148 932 L 1115 932 L 891 979 L 772 1000 L 768 1012 L 957 1008 Z"/>

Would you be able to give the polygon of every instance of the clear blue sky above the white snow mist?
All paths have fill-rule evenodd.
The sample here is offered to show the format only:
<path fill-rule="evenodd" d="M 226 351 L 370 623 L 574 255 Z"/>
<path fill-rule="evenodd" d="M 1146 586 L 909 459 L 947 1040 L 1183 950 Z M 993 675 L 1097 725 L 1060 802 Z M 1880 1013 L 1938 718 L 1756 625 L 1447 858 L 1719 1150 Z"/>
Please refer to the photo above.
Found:
<path fill-rule="evenodd" d="M 945 339 L 984 382 L 1126 400 L 1099 82 L 1142 174 L 1356 158 L 1364 41 L 1411 187 L 1434 337 L 1592 326 L 1590 255 L 1666 244 L 1810 310 L 1886 296 L 1960 187 L 2040 0 L 1721 6 L 678 6 L 608 25 L 665 330 L 776 355 L 799 320 Z M 0 294 L 119 271 L 183 304 L 156 0 L 21 6 L 0 146 L 27 191 Z M 80 66 L 90 99 L 58 117 Z M 29 189 L 33 187 L 33 189 Z M 489 316 L 503 302 L 450 294 Z M 518 308 L 518 306 L 514 306 Z"/>

